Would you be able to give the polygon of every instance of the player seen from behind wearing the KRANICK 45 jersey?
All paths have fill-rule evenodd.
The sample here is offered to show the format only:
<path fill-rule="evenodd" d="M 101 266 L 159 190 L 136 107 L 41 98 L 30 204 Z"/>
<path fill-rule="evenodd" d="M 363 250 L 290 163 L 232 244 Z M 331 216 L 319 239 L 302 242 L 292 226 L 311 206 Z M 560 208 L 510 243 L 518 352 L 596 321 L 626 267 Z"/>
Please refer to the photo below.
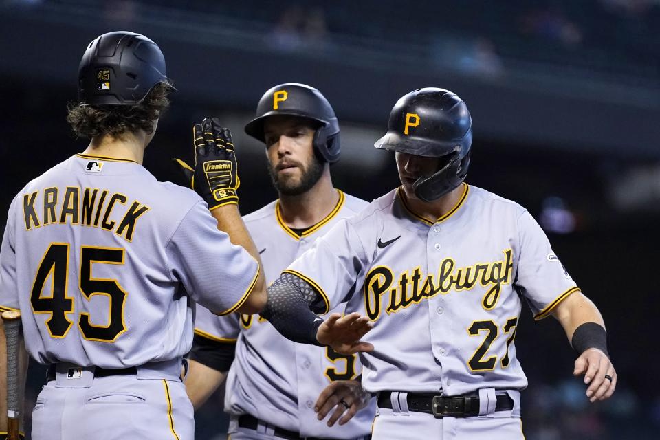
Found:
<path fill-rule="evenodd" d="M 32 439 L 192 440 L 180 377 L 192 301 L 218 314 L 265 304 L 231 136 L 211 120 L 195 126 L 204 199 L 156 181 L 142 157 L 173 89 L 159 47 L 103 34 L 78 74 L 68 120 L 91 142 L 18 193 L 0 254 L 0 309 L 21 310 L 28 352 L 50 365 Z"/>

